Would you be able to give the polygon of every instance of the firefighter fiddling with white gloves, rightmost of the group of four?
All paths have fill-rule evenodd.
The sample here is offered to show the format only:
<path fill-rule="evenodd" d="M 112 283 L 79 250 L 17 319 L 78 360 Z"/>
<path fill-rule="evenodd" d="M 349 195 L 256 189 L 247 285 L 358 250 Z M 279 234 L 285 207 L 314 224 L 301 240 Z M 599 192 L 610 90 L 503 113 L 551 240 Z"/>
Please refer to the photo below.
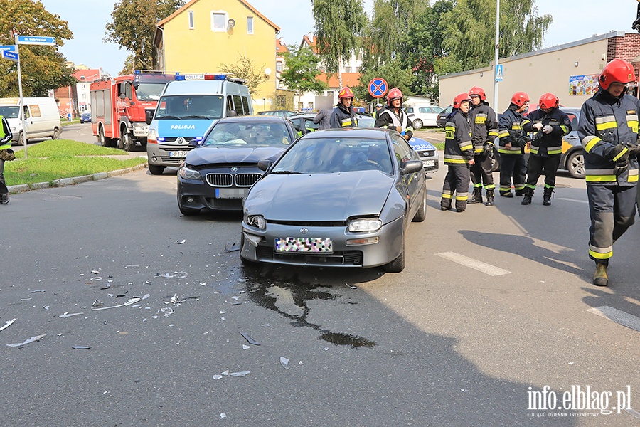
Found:
<path fill-rule="evenodd" d="M 571 132 L 569 116 L 558 109 L 558 97 L 553 93 L 545 93 L 540 97 L 540 109 L 529 113 L 528 120 L 523 125 L 525 132 L 535 132 L 529 143 L 529 161 L 527 163 L 527 186 L 523 205 L 531 203 L 535 184 L 545 171 L 545 194 L 543 205 L 550 206 L 551 194 L 555 189 L 555 175 L 560 166 L 562 154 L 562 137 Z"/>

